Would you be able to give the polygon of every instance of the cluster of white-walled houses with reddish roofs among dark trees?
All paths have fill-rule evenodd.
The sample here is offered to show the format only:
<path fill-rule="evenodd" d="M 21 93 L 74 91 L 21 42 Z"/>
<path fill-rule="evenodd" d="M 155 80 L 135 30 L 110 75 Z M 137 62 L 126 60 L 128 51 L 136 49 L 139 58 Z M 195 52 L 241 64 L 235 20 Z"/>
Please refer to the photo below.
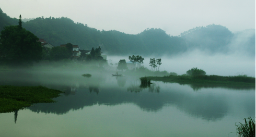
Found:
<path fill-rule="evenodd" d="M 53 48 L 54 46 L 48 42 L 46 42 L 44 39 L 39 39 L 38 42 L 41 42 L 41 46 L 42 47 L 47 47 L 47 48 Z M 60 45 L 61 47 L 66 47 L 66 44 L 62 44 Z M 73 60 L 76 60 L 78 57 L 81 56 L 81 54 L 87 54 L 89 55 L 91 51 L 88 50 L 83 50 L 83 49 L 79 49 L 78 45 L 72 45 L 73 46 L 73 55 L 72 58 Z M 103 59 L 107 59 L 107 55 L 101 55 L 103 57 Z"/>

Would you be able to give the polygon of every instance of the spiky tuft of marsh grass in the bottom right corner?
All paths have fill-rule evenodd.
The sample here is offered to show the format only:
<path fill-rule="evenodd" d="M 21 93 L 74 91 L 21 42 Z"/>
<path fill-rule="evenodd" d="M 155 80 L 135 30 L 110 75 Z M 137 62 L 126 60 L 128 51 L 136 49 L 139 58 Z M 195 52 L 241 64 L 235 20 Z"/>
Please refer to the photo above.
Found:
<path fill-rule="evenodd" d="M 249 121 L 248 121 L 249 120 Z M 236 122 L 237 131 L 239 137 L 254 137 L 255 136 L 255 120 L 253 120 L 251 117 L 246 120 L 245 118 L 245 124 L 242 124 L 241 122 Z M 238 124 L 237 124 L 238 123 Z M 234 133 L 234 132 L 231 132 Z"/>

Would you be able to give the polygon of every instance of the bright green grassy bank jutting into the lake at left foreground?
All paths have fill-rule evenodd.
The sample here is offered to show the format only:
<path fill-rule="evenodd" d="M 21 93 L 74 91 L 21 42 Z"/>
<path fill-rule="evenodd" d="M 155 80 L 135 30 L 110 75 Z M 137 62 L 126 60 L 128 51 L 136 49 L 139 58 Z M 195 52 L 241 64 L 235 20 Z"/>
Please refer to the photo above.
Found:
<path fill-rule="evenodd" d="M 58 90 L 43 86 L 0 85 L 0 113 L 9 113 L 31 106 L 33 103 L 52 103 L 52 98 L 61 96 Z"/>

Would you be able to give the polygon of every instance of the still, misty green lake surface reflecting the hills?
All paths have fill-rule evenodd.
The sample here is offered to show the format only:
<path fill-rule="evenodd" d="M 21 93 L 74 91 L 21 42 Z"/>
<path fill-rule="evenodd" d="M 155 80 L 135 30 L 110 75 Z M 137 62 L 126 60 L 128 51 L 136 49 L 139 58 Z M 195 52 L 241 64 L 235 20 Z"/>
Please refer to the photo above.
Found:
<path fill-rule="evenodd" d="M 1 74 L 1 85 L 61 90 L 56 103 L 0 114 L 0 136 L 227 136 L 255 117 L 255 89 L 199 88 L 111 73 Z M 237 136 L 230 133 L 229 136 Z"/>

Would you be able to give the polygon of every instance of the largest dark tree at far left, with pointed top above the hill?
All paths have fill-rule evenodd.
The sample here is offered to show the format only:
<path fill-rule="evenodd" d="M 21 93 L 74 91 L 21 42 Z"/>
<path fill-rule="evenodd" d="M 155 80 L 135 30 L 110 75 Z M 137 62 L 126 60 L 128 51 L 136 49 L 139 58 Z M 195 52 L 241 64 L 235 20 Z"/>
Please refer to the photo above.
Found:
<path fill-rule="evenodd" d="M 3 63 L 31 65 L 42 58 L 41 43 L 36 35 L 19 26 L 7 26 L 0 35 L 0 57 Z"/>

